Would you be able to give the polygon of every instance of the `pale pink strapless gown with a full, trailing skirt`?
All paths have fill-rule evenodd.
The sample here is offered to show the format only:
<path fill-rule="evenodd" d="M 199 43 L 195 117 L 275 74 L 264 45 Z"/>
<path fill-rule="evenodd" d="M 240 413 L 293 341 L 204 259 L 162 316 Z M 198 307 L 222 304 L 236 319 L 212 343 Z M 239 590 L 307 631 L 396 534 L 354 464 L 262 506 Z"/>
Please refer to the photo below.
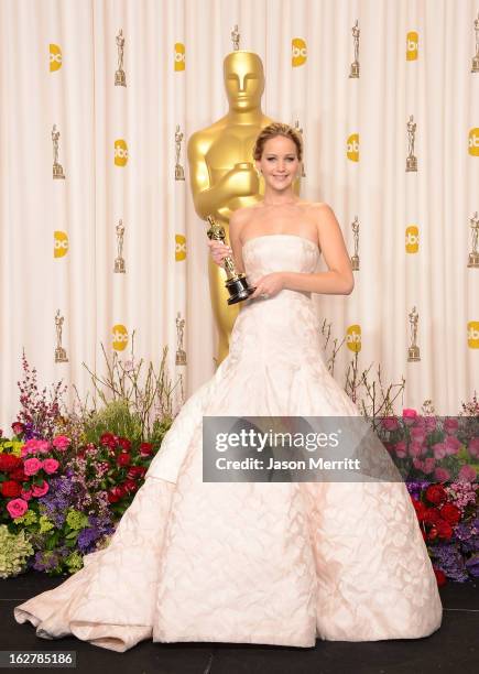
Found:
<path fill-rule="evenodd" d="M 246 242 L 252 284 L 314 272 L 296 235 Z M 314 646 L 437 630 L 437 583 L 403 482 L 203 482 L 203 415 L 359 415 L 323 360 L 309 293 L 249 300 L 227 358 L 182 406 L 108 547 L 14 608 L 36 634 Z M 384 449 L 385 452 L 385 449 Z"/>

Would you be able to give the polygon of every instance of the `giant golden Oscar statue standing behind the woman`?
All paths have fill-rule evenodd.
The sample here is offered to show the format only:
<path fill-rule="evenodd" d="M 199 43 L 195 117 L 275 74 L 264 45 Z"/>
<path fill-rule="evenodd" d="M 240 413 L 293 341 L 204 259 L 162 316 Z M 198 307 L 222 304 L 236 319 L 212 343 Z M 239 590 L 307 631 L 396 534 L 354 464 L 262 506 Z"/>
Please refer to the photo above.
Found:
<path fill-rule="evenodd" d="M 194 133 L 188 141 L 193 200 L 198 216 L 213 216 L 225 228 L 233 210 L 262 199 L 264 185 L 253 165 L 253 145 L 261 129 L 273 120 L 261 110 L 263 64 L 258 54 L 235 51 L 224 62 L 229 111 L 217 122 Z M 206 230 L 205 230 L 206 231 Z M 227 356 L 239 304 L 228 305 L 225 272 L 208 261 L 209 289 L 219 333 L 218 365 Z"/>

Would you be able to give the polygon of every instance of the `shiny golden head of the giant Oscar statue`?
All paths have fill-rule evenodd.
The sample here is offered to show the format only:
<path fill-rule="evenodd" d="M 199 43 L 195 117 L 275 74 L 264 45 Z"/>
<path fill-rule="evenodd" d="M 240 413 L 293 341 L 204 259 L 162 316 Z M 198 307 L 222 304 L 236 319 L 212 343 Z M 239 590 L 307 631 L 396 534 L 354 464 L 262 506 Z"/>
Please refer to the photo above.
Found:
<path fill-rule="evenodd" d="M 225 88 L 232 110 L 258 108 L 264 91 L 261 58 L 253 52 L 231 52 L 224 62 Z"/>

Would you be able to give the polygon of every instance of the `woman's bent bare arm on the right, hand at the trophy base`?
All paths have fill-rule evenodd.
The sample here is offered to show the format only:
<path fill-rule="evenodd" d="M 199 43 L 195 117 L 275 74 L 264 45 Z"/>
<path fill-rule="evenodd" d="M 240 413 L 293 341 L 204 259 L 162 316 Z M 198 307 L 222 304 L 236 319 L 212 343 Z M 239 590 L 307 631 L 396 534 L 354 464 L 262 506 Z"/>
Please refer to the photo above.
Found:
<path fill-rule="evenodd" d="M 355 276 L 339 222 L 327 204 L 315 204 L 313 209 L 319 247 L 329 271 L 313 274 L 281 272 L 283 287 L 325 295 L 349 295 L 355 287 Z"/>

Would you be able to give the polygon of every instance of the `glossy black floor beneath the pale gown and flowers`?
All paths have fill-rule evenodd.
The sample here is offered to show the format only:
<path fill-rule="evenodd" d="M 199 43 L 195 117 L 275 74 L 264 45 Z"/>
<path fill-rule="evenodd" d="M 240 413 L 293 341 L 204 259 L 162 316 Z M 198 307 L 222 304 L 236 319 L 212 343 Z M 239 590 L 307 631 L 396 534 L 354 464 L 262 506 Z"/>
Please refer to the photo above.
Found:
<path fill-rule="evenodd" d="M 440 588 L 444 620 L 426 639 L 327 642 L 314 649 L 228 643 L 161 644 L 143 641 L 115 653 L 75 638 L 47 641 L 33 627 L 18 624 L 12 609 L 62 583 L 29 572 L 1 581 L 0 651 L 76 651 L 75 671 L 104 674 L 426 674 L 479 671 L 479 581 Z M 3 668 L 3 667 L 1 667 Z M 53 667 L 45 667 L 53 670 Z M 43 671 L 45 671 L 43 668 Z"/>

